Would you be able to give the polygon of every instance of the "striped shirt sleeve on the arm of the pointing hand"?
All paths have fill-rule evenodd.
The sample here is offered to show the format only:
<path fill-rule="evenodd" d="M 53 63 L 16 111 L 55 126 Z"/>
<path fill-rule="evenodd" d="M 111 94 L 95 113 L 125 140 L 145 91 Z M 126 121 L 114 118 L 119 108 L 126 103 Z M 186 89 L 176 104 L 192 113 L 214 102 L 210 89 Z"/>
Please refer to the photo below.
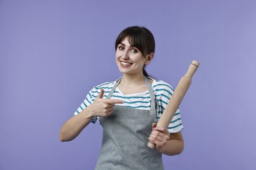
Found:
<path fill-rule="evenodd" d="M 86 95 L 85 99 L 83 100 L 83 102 L 81 103 L 81 105 L 77 108 L 77 110 L 74 112 L 74 116 L 79 114 L 81 111 L 83 111 L 86 107 L 89 107 L 89 105 L 91 105 L 91 103 L 93 103 L 93 101 L 95 101 L 96 96 L 95 93 L 98 93 L 98 89 L 96 87 L 93 87 L 92 90 L 90 90 L 90 92 Z M 97 117 L 94 117 L 91 122 L 93 122 L 93 124 L 95 124 L 97 120 Z"/>

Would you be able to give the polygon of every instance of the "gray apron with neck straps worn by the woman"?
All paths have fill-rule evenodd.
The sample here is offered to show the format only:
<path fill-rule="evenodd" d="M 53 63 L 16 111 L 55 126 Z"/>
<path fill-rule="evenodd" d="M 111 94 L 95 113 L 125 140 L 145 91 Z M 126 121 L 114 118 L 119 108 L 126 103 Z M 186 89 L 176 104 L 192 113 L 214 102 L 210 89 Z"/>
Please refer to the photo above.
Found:
<path fill-rule="evenodd" d="M 156 122 L 158 103 L 150 81 L 144 77 L 150 93 L 150 110 L 115 105 L 112 114 L 100 117 L 102 146 L 95 169 L 163 169 L 161 153 L 149 148 L 148 137 Z M 110 99 L 121 78 L 108 94 Z"/>

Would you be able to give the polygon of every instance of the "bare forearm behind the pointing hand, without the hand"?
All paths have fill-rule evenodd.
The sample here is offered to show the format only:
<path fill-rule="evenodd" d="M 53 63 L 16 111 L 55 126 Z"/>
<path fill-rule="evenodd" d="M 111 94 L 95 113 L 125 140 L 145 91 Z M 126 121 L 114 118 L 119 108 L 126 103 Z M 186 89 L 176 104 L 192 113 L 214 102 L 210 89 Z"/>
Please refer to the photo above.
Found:
<path fill-rule="evenodd" d="M 60 141 L 72 141 L 81 133 L 81 131 L 91 122 L 93 116 L 90 116 L 87 108 L 70 118 L 63 124 L 60 129 L 59 138 Z"/>

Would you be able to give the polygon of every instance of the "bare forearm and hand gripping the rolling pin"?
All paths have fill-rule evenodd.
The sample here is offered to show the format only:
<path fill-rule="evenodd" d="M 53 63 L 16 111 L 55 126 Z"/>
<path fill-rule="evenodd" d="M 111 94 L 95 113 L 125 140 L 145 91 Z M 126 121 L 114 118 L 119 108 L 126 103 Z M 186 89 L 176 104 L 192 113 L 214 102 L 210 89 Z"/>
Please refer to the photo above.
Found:
<path fill-rule="evenodd" d="M 148 138 L 156 144 L 156 150 L 169 156 L 181 154 L 184 149 L 184 140 L 181 131 L 178 133 L 169 133 L 167 128 L 156 127 L 152 124 L 153 131 Z"/>

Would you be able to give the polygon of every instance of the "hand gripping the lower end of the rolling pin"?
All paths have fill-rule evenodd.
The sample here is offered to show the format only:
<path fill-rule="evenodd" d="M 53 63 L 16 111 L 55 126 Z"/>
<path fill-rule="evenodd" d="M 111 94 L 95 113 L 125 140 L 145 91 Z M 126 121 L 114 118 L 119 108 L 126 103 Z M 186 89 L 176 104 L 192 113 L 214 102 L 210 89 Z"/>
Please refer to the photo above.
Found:
<path fill-rule="evenodd" d="M 170 133 L 167 128 L 165 127 L 156 127 L 157 124 L 152 124 L 152 132 L 150 137 L 148 138 L 149 141 L 152 141 L 156 144 L 156 150 L 161 151 L 161 148 L 169 141 Z"/>

